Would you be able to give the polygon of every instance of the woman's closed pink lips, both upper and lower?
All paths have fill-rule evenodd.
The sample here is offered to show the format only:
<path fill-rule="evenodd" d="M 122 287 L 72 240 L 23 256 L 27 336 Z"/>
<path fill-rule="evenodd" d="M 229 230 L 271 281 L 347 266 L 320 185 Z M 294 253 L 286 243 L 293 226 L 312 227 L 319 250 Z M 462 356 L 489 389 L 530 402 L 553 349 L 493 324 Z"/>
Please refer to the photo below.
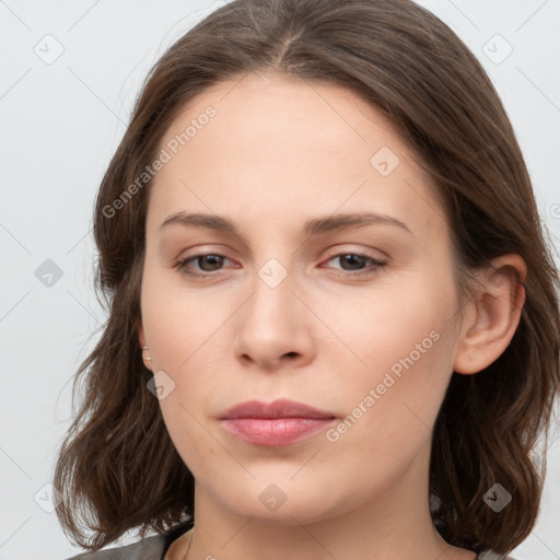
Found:
<path fill-rule="evenodd" d="M 220 420 L 225 430 L 240 440 L 276 446 L 311 438 L 331 424 L 336 416 L 293 400 L 247 400 L 230 408 Z"/>

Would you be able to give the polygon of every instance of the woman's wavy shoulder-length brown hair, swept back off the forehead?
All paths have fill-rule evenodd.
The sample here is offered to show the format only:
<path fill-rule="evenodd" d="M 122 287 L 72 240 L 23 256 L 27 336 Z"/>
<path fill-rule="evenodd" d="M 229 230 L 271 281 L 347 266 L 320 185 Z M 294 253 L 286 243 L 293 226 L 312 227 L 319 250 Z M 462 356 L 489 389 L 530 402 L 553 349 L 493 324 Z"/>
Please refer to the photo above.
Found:
<path fill-rule="evenodd" d="M 410 0 L 234 0 L 150 72 L 96 198 L 96 288 L 109 315 L 78 372 L 83 399 L 56 466 L 65 530 L 98 549 L 129 529 L 144 535 L 194 515 L 192 475 L 147 389 L 138 341 L 149 182 L 118 212 L 107 209 L 154 161 L 189 100 L 268 69 L 342 84 L 390 119 L 434 177 L 464 272 L 506 253 L 525 259 L 520 326 L 487 370 L 453 373 L 430 470 L 432 516 L 450 544 L 512 550 L 538 513 L 544 460 L 533 452 L 560 386 L 558 273 L 495 90 L 464 43 Z M 482 500 L 494 482 L 513 497 L 499 515 Z"/>

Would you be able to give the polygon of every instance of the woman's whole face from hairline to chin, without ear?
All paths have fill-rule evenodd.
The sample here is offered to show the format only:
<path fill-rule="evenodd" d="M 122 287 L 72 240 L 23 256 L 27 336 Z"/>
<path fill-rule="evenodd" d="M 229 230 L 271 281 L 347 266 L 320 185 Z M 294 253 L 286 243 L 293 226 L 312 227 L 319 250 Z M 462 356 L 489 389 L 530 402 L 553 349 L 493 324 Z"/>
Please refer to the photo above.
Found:
<path fill-rule="evenodd" d="M 341 86 L 249 74 L 160 148 L 140 339 L 197 500 L 284 524 L 425 500 L 459 300 L 444 211 L 395 130 Z M 326 418 L 223 419 L 277 399 Z"/>

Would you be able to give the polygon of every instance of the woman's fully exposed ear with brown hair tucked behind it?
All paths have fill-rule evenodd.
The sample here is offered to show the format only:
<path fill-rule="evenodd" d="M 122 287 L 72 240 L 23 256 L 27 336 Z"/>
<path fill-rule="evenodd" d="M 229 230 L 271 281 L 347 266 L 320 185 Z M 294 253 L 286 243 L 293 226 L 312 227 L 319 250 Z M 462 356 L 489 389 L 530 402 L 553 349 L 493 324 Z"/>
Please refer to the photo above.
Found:
<path fill-rule="evenodd" d="M 467 304 L 454 371 L 477 373 L 508 348 L 525 303 L 527 267 L 520 255 L 502 255 L 478 272 L 478 288 Z"/>

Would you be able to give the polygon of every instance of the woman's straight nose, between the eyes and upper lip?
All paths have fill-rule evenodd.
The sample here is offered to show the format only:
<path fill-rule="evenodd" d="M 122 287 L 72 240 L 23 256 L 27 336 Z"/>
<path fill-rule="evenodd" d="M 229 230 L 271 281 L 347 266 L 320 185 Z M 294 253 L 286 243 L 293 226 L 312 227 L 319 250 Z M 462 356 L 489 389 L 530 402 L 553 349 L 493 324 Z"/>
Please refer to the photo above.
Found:
<path fill-rule="evenodd" d="M 255 275 L 253 294 L 236 314 L 235 355 L 266 371 L 301 368 L 315 357 L 313 314 L 292 291 L 290 275 L 272 285 Z"/>

